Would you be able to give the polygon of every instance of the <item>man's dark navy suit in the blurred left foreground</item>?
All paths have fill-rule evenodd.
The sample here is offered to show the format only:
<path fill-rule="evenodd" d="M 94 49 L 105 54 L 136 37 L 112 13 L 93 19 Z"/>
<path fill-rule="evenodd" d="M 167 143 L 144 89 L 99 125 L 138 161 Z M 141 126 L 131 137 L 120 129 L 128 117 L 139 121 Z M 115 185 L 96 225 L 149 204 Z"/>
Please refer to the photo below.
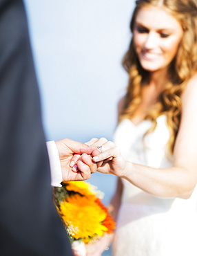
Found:
<path fill-rule="evenodd" d="M 0 255 L 72 255 L 52 202 L 21 0 L 0 0 Z"/>

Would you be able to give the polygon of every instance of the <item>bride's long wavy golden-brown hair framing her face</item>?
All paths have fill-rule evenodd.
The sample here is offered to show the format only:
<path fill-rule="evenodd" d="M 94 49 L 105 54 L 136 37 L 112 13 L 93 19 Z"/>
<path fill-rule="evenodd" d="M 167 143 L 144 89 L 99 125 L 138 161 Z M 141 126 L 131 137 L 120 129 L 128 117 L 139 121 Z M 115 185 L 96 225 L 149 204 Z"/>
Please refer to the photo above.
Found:
<path fill-rule="evenodd" d="M 167 125 L 170 131 L 168 141 L 169 152 L 174 151 L 174 143 L 180 125 L 181 100 L 189 78 L 197 71 L 197 8 L 196 0 L 138 0 L 134 9 L 130 29 L 133 33 L 134 22 L 138 10 L 144 6 L 162 6 L 169 14 L 180 22 L 183 28 L 183 38 L 181 39 L 178 51 L 174 60 L 169 64 L 167 70 L 168 82 L 163 86 L 163 91 L 158 97 L 158 101 L 149 109 L 145 119 L 152 120 L 152 128 L 147 133 L 156 128 L 156 118 L 165 114 Z M 145 71 L 136 55 L 133 39 L 129 44 L 129 50 L 123 57 L 123 67 L 129 74 L 127 93 L 125 95 L 125 106 L 119 116 L 119 121 L 124 118 L 132 119 L 138 104 L 141 102 L 141 88 L 149 83 L 149 72 Z M 146 134 L 147 134 L 146 133 Z"/>

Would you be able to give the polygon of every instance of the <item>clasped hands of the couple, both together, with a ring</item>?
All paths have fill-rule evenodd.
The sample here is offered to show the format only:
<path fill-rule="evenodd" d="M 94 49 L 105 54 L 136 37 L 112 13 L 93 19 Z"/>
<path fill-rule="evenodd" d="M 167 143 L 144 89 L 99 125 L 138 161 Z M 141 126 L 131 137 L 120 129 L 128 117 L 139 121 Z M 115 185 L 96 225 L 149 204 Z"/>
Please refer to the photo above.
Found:
<path fill-rule="evenodd" d="M 63 181 L 90 179 L 91 174 L 96 171 L 121 176 L 125 170 L 125 161 L 120 150 L 106 138 L 92 138 L 85 144 L 65 138 L 55 143 L 61 161 Z M 98 145 L 102 146 L 102 150 Z"/>

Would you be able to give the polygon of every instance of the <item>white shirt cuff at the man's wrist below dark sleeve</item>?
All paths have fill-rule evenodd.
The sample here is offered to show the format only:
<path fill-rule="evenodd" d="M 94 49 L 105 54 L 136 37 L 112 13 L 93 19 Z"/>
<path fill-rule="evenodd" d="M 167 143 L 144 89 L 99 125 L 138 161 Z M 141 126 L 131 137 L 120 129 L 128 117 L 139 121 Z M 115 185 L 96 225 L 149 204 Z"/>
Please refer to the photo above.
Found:
<path fill-rule="evenodd" d="M 59 160 L 59 153 L 56 148 L 54 140 L 46 143 L 48 149 L 48 156 L 50 161 L 50 172 L 51 172 L 51 185 L 54 187 L 61 187 L 62 172 L 61 163 Z"/>

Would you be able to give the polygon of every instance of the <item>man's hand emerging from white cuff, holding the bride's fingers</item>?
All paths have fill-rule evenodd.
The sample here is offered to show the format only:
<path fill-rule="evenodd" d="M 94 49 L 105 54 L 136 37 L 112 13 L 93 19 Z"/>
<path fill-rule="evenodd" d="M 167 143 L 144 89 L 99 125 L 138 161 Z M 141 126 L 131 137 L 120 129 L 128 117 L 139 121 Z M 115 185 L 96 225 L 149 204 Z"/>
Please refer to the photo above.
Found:
<path fill-rule="evenodd" d="M 63 181 L 83 181 L 90 179 L 91 174 L 96 172 L 97 165 L 90 156 L 96 147 L 89 147 L 68 138 L 57 140 L 55 143 L 59 152 Z M 81 159 L 84 153 L 87 158 L 91 158 L 91 161 L 88 161 L 89 165 L 83 163 Z M 80 156 L 76 170 L 72 164 L 70 165 L 74 154 Z"/>

